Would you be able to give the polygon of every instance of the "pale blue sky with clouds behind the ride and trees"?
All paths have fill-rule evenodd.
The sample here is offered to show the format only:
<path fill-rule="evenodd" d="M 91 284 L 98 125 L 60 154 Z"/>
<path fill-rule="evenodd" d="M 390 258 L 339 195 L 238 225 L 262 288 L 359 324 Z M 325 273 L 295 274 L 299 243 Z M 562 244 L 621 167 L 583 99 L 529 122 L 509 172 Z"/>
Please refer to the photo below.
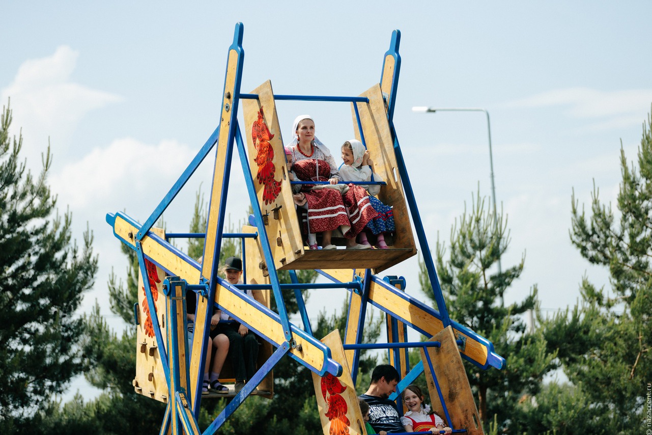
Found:
<path fill-rule="evenodd" d="M 10 99 L 12 132 L 22 132 L 34 172 L 50 143 L 48 180 L 59 210 L 72 213 L 78 241 L 86 228 L 93 232 L 99 256 L 80 314 L 98 303 L 116 331 L 125 325 L 109 310 L 106 282 L 111 271 L 124 276 L 126 262 L 106 213 L 126 211 L 143 222 L 209 138 L 237 22 L 244 24 L 242 91 L 271 80 L 275 93 L 295 95 L 363 93 L 378 83 L 391 33 L 400 29 L 394 126 L 430 249 L 437 237 L 449 241 L 478 191 L 491 197 L 487 123 L 481 112 L 411 108 L 484 108 L 497 203 L 510 231 L 503 269 L 525 256 L 505 302 L 522 300 L 536 285 L 546 315 L 577 303 L 584 276 L 609 288 L 606 271 L 571 245 L 571 196 L 590 207 L 595 184 L 603 202 L 614 202 L 621 147 L 636 159 L 652 104 L 652 3 L 0 5 L 0 100 L 4 106 Z M 276 108 L 286 142 L 299 113 L 313 115 L 331 151 L 353 137 L 346 103 L 282 101 Z M 233 158 L 227 210 L 237 224 L 248 200 Z M 209 194 L 213 158 L 206 160 L 164 213 L 168 230 L 185 232 L 196 192 Z M 406 277 L 406 291 L 424 300 L 417 270 L 414 257 L 383 275 Z M 311 318 L 339 310 L 345 294 L 336 292 L 310 295 Z M 83 380 L 70 391 L 78 388 L 93 395 Z"/>

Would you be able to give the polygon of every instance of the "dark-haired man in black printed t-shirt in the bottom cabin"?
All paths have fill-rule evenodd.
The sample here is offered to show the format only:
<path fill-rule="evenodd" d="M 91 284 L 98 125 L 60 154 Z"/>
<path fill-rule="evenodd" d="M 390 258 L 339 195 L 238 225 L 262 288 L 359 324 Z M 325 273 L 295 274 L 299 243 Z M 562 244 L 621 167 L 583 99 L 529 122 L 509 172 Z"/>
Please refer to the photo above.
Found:
<path fill-rule="evenodd" d="M 405 432 L 401 424 L 396 403 L 389 400 L 389 395 L 396 390 L 399 375 L 396 368 L 381 364 L 371 374 L 369 389 L 360 396 L 369 404 L 369 423 L 379 434 L 384 432 Z"/>

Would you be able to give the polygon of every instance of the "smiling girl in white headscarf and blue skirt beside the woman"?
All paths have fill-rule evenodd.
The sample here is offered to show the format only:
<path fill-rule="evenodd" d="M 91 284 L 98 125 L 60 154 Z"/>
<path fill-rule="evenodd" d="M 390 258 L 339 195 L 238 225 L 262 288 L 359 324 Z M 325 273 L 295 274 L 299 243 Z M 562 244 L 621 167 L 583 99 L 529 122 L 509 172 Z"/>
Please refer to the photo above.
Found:
<path fill-rule="evenodd" d="M 374 172 L 374 161 L 371 159 L 369 151 L 359 140 L 351 139 L 342 145 L 342 160 L 344 164 L 340 166 L 340 176 L 344 181 L 383 181 L 383 179 Z M 394 232 L 394 214 L 392 207 L 385 205 L 374 195 L 380 192 L 380 185 L 360 185 L 369 192 L 369 200 L 378 215 L 367 222 L 366 231 L 376 235 L 376 247 L 387 249 L 385 243 L 385 233 Z M 360 232 L 358 239 L 363 245 L 370 245 L 366 237 L 366 231 Z"/>

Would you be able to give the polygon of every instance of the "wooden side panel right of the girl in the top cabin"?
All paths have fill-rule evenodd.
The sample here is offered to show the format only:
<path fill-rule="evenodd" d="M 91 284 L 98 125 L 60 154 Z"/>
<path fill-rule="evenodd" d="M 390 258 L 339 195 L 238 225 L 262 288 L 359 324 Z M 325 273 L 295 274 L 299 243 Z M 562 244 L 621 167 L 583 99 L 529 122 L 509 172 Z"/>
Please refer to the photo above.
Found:
<path fill-rule="evenodd" d="M 396 163 L 396 155 L 394 155 L 394 141 L 389 130 L 387 112 L 385 110 L 385 102 L 383 102 L 380 85 L 376 84 L 372 86 L 360 96 L 369 98 L 369 102 L 351 103 L 353 128 L 355 130 L 355 137 L 360 140 L 361 136 L 357 127 L 355 108 L 353 107 L 353 104 L 357 104 L 360 122 L 364 131 L 364 140 L 374 160 L 374 168 L 383 177 L 385 183 L 387 183 L 387 185 L 381 187 L 378 199 L 386 205 L 393 207 L 394 224 L 396 226 L 393 247 L 411 249 L 413 250 L 412 255 L 415 255 L 417 248 L 412 235 L 408 206 L 406 205 L 403 187 L 398 173 L 398 164 Z M 376 268 L 376 273 L 396 263 L 390 262 L 383 267 L 378 267 Z"/>

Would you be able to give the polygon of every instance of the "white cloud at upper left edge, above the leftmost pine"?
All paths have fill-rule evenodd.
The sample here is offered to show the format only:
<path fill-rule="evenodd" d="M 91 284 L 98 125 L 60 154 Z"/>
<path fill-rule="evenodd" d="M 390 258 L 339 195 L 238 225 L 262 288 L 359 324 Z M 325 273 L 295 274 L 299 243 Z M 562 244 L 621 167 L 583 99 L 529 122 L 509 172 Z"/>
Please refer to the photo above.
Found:
<path fill-rule="evenodd" d="M 3 104 L 11 98 L 12 127 L 16 133 L 22 127 L 25 143 L 30 144 L 23 148 L 28 162 L 44 151 L 48 136 L 57 143 L 57 155 L 65 154 L 72 132 L 87 112 L 123 99 L 72 82 L 78 57 L 79 52 L 59 46 L 50 56 L 27 60 L 0 92 Z"/>

